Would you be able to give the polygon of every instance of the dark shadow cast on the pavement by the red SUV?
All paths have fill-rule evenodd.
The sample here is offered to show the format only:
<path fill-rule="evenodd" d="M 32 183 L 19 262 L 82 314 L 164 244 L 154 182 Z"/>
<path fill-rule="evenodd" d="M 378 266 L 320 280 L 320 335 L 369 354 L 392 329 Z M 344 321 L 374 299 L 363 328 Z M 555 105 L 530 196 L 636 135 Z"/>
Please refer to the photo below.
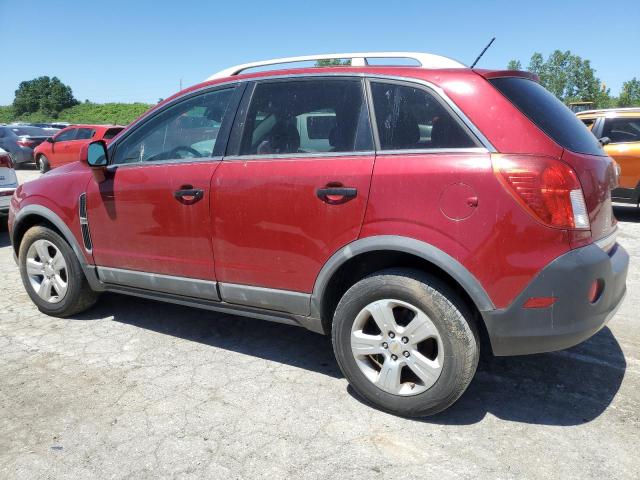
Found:
<path fill-rule="evenodd" d="M 328 337 L 303 328 L 105 294 L 78 319 L 115 321 L 188 341 L 314 371 L 342 374 Z M 464 395 L 422 421 L 466 425 L 487 414 L 514 422 L 579 425 L 597 418 L 618 392 L 626 361 L 608 328 L 572 349 L 520 357 L 484 354 Z M 349 393 L 361 400 L 349 387 Z"/>

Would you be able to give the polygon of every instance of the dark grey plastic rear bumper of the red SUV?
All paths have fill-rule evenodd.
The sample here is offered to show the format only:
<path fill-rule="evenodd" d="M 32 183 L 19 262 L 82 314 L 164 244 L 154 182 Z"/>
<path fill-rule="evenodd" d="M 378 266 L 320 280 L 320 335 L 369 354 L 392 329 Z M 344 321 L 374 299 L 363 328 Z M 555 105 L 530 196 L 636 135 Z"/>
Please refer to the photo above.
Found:
<path fill-rule="evenodd" d="M 483 312 L 495 355 L 524 355 L 572 347 L 598 332 L 626 293 L 629 255 L 616 244 L 607 253 L 597 245 L 572 250 L 551 262 L 506 309 Z M 589 288 L 602 279 L 595 303 Z M 522 308 L 530 297 L 557 297 L 547 308 Z"/>

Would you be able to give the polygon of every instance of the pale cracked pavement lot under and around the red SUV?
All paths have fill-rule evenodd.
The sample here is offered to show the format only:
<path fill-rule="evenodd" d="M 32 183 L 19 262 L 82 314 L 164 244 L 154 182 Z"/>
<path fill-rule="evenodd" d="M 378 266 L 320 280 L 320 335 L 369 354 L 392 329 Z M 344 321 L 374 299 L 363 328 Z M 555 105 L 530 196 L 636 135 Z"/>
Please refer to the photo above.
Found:
<path fill-rule="evenodd" d="M 632 264 L 609 327 L 483 358 L 424 421 L 362 404 L 299 328 L 117 295 L 44 316 L 1 233 L 0 478 L 638 478 L 640 211 L 616 215 Z"/>

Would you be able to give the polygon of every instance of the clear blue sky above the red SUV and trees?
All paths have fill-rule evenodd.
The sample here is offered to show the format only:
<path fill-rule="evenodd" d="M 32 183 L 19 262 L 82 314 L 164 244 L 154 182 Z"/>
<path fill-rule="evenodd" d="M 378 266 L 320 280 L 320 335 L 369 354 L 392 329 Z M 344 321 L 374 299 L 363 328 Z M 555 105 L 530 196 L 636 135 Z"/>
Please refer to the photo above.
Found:
<path fill-rule="evenodd" d="M 149 102 L 225 67 L 315 53 L 422 51 L 524 67 L 571 50 L 614 95 L 640 78 L 640 0 L 0 0 L 0 105 L 57 76 L 81 101 Z"/>

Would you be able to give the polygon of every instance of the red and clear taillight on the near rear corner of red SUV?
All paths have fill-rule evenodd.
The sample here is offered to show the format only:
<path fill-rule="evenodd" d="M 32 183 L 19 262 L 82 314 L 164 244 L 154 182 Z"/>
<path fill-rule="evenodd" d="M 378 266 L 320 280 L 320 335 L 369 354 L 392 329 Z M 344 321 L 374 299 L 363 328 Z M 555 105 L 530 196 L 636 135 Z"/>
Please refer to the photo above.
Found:
<path fill-rule="evenodd" d="M 588 229 L 582 187 L 573 169 L 549 157 L 493 155 L 498 180 L 518 203 L 550 227 Z"/>

